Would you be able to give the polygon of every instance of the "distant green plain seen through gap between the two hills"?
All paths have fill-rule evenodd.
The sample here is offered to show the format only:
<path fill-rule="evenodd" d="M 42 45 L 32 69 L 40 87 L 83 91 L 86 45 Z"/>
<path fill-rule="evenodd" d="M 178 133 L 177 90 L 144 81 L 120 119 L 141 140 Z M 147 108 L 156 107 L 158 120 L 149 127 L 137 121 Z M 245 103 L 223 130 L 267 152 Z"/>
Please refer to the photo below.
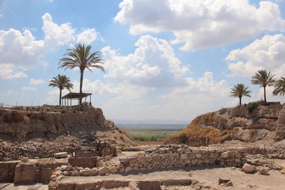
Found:
<path fill-rule="evenodd" d="M 170 134 L 181 132 L 187 125 L 124 125 L 118 126 L 134 141 L 164 141 Z"/>

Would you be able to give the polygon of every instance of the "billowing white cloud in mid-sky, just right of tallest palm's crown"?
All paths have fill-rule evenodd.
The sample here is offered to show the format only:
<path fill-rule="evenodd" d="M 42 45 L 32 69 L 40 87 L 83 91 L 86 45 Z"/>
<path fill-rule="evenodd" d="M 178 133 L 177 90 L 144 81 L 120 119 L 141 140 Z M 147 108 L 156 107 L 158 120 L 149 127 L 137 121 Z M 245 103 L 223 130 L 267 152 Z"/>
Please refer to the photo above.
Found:
<path fill-rule="evenodd" d="M 181 67 L 181 61 L 175 57 L 174 51 L 164 39 L 141 36 L 134 44 L 134 54 L 121 56 L 118 50 L 110 46 L 101 51 L 105 58 L 105 77 L 116 82 L 128 81 L 132 85 L 173 86 L 183 83 L 182 76 L 189 71 L 187 66 Z"/>

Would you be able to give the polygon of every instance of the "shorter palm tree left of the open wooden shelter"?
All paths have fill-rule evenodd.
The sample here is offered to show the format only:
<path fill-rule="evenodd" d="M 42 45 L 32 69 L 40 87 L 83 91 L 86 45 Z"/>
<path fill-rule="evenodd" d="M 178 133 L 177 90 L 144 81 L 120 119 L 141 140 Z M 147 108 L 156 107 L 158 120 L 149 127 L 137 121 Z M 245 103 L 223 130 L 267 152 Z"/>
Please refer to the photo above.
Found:
<path fill-rule="evenodd" d="M 66 75 L 57 75 L 56 77 L 53 77 L 53 80 L 48 81 L 49 85 L 52 87 L 58 87 L 59 88 L 59 105 L 61 105 L 61 91 L 66 88 L 70 91 L 70 88 L 73 88 L 73 84 L 69 83 L 69 77 L 66 77 Z"/>

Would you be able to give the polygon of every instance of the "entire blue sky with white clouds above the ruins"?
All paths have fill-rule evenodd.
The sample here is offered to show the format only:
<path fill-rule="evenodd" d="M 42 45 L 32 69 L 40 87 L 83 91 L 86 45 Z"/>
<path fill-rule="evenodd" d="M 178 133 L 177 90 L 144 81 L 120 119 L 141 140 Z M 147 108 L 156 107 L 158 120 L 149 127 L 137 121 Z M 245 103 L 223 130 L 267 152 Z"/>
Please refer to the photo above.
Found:
<path fill-rule="evenodd" d="M 56 105 L 57 74 L 79 92 L 79 71 L 57 69 L 77 42 L 102 51 L 106 73 L 85 70 L 83 91 L 107 118 L 191 120 L 237 105 L 237 83 L 252 91 L 243 103 L 259 100 L 250 76 L 284 77 L 284 12 L 284 1 L 1 0 L 0 102 Z"/>

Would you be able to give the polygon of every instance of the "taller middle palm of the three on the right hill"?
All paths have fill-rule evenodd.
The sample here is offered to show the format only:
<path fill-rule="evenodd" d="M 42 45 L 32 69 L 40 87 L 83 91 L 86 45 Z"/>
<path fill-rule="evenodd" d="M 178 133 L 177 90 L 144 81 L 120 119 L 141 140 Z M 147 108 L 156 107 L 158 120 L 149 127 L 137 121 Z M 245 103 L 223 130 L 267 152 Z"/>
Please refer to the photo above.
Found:
<path fill-rule="evenodd" d="M 254 76 L 252 76 L 251 84 L 260 85 L 259 88 L 263 87 L 264 91 L 264 102 L 266 103 L 266 86 L 274 86 L 276 83 L 275 75 L 270 74 L 270 72 L 266 72 L 265 70 L 258 70 Z"/>

